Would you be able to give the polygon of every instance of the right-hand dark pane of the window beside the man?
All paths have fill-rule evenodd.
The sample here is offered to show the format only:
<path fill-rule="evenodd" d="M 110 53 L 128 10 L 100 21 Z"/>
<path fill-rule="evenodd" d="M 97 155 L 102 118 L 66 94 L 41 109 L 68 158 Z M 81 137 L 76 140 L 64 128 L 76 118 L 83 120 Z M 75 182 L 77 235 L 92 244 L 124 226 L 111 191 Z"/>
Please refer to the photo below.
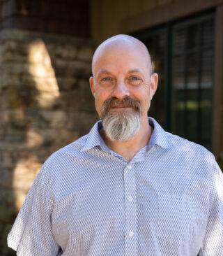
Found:
<path fill-rule="evenodd" d="M 173 28 L 173 132 L 210 149 L 213 88 L 213 16 Z"/>

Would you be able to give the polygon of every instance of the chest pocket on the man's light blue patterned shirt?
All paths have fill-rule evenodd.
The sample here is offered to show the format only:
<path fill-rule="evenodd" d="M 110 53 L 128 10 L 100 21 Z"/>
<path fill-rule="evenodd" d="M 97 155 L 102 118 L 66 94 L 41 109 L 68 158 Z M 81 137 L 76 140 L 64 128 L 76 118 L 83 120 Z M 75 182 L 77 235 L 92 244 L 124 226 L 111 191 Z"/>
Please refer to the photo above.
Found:
<path fill-rule="evenodd" d="M 192 238 L 196 218 L 194 200 L 186 194 L 160 194 L 158 199 L 157 236 L 172 243 Z"/>

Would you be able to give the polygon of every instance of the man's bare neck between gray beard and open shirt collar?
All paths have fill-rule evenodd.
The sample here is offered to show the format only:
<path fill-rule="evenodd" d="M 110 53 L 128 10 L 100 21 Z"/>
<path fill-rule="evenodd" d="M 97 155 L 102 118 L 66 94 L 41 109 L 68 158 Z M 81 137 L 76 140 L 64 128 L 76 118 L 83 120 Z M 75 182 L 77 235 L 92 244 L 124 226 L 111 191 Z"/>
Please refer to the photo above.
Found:
<path fill-rule="evenodd" d="M 139 132 L 128 141 L 111 141 L 102 129 L 100 135 L 105 141 L 108 148 L 123 156 L 128 162 L 134 157 L 134 155 L 144 146 L 148 145 L 148 141 L 153 133 L 153 128 L 148 125 L 148 118 L 141 119 L 141 127 Z"/>

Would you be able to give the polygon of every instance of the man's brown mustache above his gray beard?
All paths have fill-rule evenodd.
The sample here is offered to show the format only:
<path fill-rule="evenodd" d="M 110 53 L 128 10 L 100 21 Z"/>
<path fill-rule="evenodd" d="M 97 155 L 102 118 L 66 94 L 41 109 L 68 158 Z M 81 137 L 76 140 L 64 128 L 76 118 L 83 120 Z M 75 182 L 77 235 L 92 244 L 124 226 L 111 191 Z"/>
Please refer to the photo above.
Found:
<path fill-rule="evenodd" d="M 132 107 L 134 111 L 141 113 L 141 104 L 137 99 L 132 99 L 130 97 L 125 97 L 124 99 L 117 99 L 115 97 L 112 97 L 110 99 L 107 99 L 102 105 L 102 111 L 101 111 L 102 118 L 105 116 L 107 111 L 109 111 L 111 108 L 114 108 L 118 105 L 122 105 L 124 107 Z"/>

